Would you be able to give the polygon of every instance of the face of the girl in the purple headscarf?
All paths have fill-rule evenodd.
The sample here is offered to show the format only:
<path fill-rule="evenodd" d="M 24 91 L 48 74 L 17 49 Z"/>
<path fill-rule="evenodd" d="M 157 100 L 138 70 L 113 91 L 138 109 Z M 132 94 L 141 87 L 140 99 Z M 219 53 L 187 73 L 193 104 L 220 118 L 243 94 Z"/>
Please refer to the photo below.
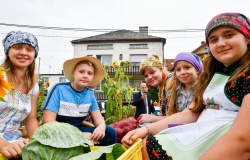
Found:
<path fill-rule="evenodd" d="M 176 78 L 185 86 L 192 86 L 198 79 L 198 71 L 187 61 L 178 61 L 174 72 Z"/>

